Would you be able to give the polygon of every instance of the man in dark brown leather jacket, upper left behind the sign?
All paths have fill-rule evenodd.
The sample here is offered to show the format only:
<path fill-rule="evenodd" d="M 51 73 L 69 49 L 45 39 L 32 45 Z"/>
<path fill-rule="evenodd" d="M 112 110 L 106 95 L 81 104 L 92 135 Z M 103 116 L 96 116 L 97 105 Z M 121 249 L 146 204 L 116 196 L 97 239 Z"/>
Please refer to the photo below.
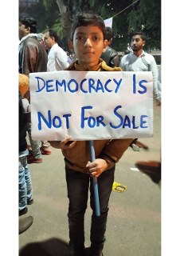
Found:
<path fill-rule="evenodd" d="M 19 73 L 29 76 L 33 72 L 47 71 L 48 55 L 37 39 L 37 22 L 34 18 L 19 18 Z M 29 99 L 29 92 L 25 94 Z M 51 154 L 49 143 L 34 141 L 31 137 L 31 123 L 28 128 L 31 151 L 28 163 L 41 163 L 41 154 Z"/>

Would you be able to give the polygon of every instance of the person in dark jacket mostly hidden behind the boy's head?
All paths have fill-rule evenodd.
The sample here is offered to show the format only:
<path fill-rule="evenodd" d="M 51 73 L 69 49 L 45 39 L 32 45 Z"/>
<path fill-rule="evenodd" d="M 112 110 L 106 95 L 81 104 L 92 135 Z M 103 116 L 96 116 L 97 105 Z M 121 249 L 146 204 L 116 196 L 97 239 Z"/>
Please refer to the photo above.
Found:
<path fill-rule="evenodd" d="M 106 50 L 101 54 L 100 58 L 106 62 L 108 66 L 119 66 L 119 55 L 110 45 L 112 44 L 113 32 L 110 26 L 105 27 L 105 40 L 108 42 Z"/>

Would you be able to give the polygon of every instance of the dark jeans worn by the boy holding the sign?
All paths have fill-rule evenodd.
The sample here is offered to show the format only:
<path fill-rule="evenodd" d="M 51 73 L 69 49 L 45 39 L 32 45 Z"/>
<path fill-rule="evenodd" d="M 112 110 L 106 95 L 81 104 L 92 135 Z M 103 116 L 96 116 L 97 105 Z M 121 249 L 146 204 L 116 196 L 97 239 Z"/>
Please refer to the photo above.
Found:
<path fill-rule="evenodd" d="M 84 251 L 84 214 L 88 203 L 88 189 L 90 190 L 90 206 L 92 208 L 91 225 L 91 250 L 98 254 L 104 248 L 105 231 L 108 218 L 108 202 L 114 182 L 115 166 L 104 171 L 97 178 L 100 198 L 100 216 L 96 217 L 93 179 L 88 174 L 83 174 L 65 167 L 68 189 L 68 228 L 70 246 L 74 251 Z"/>

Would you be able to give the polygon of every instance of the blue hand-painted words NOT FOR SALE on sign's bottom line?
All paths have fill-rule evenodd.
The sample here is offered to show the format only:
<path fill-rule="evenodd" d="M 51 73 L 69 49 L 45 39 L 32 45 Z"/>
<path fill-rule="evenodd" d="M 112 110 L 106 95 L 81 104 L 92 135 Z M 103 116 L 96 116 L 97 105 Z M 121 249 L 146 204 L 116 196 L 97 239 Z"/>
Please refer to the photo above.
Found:
<path fill-rule="evenodd" d="M 113 114 L 115 115 L 115 119 L 113 122 L 109 122 L 108 126 L 110 126 L 112 129 L 118 129 L 120 127 L 122 128 L 132 128 L 132 129 L 139 129 L 139 128 L 148 128 L 146 126 L 147 124 L 147 115 L 141 115 L 138 122 L 134 115 L 128 117 L 125 115 L 122 117 L 118 110 L 122 108 L 122 106 L 116 106 Z M 99 115 L 97 117 L 94 116 L 86 116 L 88 113 L 88 110 L 92 110 L 92 106 L 83 106 L 81 107 L 81 114 L 80 114 L 80 128 L 84 129 L 84 127 L 94 128 L 99 126 L 107 126 L 104 122 L 104 116 Z M 54 116 L 52 117 L 51 111 L 48 110 L 47 118 L 41 112 L 37 112 L 37 119 L 38 119 L 38 130 L 42 130 L 42 124 L 45 124 L 49 129 L 52 128 L 60 128 L 61 126 L 65 125 L 66 129 L 69 129 L 70 125 L 70 118 L 72 114 L 64 114 L 62 117 Z M 118 124 L 117 124 L 118 122 Z M 139 123 L 139 126 L 136 125 L 136 123 Z"/>

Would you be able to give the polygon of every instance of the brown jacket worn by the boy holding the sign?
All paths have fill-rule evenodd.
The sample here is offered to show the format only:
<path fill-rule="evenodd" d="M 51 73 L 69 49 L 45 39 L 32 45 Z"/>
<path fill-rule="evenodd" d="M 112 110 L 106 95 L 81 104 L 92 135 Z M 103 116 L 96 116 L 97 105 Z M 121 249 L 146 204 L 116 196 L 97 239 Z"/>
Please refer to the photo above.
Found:
<path fill-rule="evenodd" d="M 88 70 L 84 66 L 78 65 L 77 62 L 73 62 L 66 70 Z M 122 71 L 120 67 L 109 67 L 106 63 L 100 59 L 100 63 L 97 66 L 93 66 L 93 71 Z M 91 70 L 91 71 L 92 71 Z M 123 153 L 127 150 L 128 146 L 132 142 L 132 138 L 125 139 L 107 139 L 94 141 L 94 149 L 96 158 L 103 158 L 108 163 L 108 169 L 115 166 L 115 162 L 123 156 Z M 69 150 L 62 150 L 62 154 L 65 156 L 65 163 L 72 170 L 86 173 L 88 169 L 86 165 L 90 160 L 90 150 L 88 141 L 78 141 L 76 145 Z"/>

